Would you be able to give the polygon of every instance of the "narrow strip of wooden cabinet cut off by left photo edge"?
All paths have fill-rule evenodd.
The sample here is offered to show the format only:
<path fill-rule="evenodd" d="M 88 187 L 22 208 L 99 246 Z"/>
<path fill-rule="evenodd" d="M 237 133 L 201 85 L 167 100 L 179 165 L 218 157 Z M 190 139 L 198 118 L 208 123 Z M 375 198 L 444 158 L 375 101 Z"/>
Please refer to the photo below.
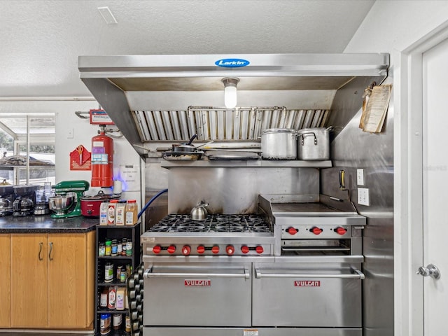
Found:
<path fill-rule="evenodd" d="M 10 328 L 11 311 L 11 259 L 10 259 L 10 235 L 0 235 L 0 328 Z"/>

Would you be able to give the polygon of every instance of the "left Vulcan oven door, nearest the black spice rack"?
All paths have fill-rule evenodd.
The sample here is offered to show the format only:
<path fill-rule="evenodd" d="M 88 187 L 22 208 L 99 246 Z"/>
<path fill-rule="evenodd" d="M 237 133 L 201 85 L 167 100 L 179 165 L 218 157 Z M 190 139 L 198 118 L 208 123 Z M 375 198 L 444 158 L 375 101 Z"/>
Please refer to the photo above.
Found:
<path fill-rule="evenodd" d="M 144 278 L 144 325 L 251 325 L 251 264 L 156 263 Z"/>

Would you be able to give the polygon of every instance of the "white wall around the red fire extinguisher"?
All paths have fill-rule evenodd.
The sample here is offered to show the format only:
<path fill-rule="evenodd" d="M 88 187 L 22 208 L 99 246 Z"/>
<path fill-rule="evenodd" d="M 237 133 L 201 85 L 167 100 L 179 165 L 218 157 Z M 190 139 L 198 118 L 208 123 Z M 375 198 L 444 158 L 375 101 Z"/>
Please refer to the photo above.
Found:
<path fill-rule="evenodd" d="M 93 100 L 0 102 L 0 113 L 5 116 L 8 113 L 55 113 L 56 183 L 67 180 L 85 180 L 90 183 L 92 176 L 90 171 L 70 170 L 69 153 L 78 145 L 83 145 L 88 151 L 92 151 L 91 139 L 97 135 L 99 127 L 97 125 L 90 125 L 89 119 L 81 119 L 76 116 L 75 112 L 88 112 L 90 109 L 98 109 L 98 107 L 98 103 Z M 107 128 L 116 129 L 114 125 L 109 125 Z M 73 130 L 72 138 L 67 136 L 69 130 Z M 114 132 L 113 134 L 118 135 L 118 132 Z M 119 175 L 120 165 L 138 165 L 141 167 L 139 155 L 124 137 L 113 139 L 113 145 L 114 177 Z M 144 181 L 141 182 L 143 183 L 140 183 L 140 186 L 144 186 Z M 86 195 L 95 195 L 99 190 L 100 188 L 90 188 L 86 192 Z M 112 193 L 111 188 L 104 188 L 104 193 Z M 139 209 L 141 209 L 141 190 L 123 191 L 123 199 L 136 199 L 139 202 Z"/>

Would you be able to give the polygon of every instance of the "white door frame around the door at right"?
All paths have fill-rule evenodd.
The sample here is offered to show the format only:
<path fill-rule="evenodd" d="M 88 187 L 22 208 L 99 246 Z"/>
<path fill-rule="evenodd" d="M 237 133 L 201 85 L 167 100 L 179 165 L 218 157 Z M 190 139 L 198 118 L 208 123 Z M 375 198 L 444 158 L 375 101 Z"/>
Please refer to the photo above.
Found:
<path fill-rule="evenodd" d="M 448 38 L 448 20 L 392 53 L 394 85 L 394 335 L 423 336 L 423 53 Z"/>

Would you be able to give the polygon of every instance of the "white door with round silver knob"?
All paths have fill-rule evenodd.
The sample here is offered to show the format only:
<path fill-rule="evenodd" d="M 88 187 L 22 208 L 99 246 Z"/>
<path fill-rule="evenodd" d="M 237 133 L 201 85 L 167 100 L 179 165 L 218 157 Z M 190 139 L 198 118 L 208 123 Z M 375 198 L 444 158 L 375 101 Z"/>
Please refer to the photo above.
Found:
<path fill-rule="evenodd" d="M 425 336 L 448 335 L 448 40 L 423 53 L 423 279 Z M 436 273 L 433 273 L 434 275 Z"/>

